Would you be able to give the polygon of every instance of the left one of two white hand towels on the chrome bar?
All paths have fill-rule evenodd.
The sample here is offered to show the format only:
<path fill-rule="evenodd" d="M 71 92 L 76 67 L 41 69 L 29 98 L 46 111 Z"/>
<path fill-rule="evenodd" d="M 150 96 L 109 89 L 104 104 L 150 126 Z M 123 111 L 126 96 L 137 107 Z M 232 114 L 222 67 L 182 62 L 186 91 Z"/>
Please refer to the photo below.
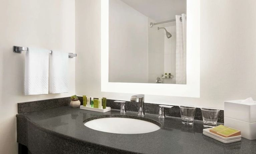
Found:
<path fill-rule="evenodd" d="M 25 59 L 25 95 L 48 94 L 49 50 L 28 48 Z"/>

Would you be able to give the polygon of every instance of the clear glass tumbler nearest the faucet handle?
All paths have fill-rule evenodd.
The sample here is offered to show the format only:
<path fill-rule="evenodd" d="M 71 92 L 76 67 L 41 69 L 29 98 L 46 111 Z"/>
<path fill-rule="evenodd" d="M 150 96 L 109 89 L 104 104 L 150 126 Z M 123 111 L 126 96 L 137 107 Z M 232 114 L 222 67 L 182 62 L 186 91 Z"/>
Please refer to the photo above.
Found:
<path fill-rule="evenodd" d="M 180 105 L 179 107 L 182 123 L 186 125 L 193 125 L 197 107 L 192 105 Z"/>

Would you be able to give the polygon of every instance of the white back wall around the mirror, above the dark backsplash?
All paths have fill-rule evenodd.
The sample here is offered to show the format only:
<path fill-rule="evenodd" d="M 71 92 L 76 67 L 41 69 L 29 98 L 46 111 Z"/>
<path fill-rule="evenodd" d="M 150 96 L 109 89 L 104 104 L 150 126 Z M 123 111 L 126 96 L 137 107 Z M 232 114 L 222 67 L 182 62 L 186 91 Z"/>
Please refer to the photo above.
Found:
<path fill-rule="evenodd" d="M 91 23 L 94 26 L 83 30 L 84 36 L 76 36 L 76 40 L 90 39 L 89 43 L 93 42 L 98 45 L 100 44 L 100 0 L 86 0 L 84 3 L 90 3 L 94 8 L 94 10 L 88 10 L 89 15 L 83 14 L 84 18 L 94 20 Z M 145 101 L 149 102 L 148 100 L 152 99 L 152 103 L 192 104 L 198 107 L 209 106 L 223 109 L 225 100 L 247 97 L 256 99 L 256 80 L 254 79 L 256 75 L 256 44 L 254 43 L 256 21 L 253 20 L 256 18 L 255 5 L 254 0 L 201 1 L 200 98 L 159 96 L 157 100 L 154 100 L 151 95 L 146 95 Z M 92 34 L 91 31 L 97 32 L 93 33 L 93 36 L 88 35 Z M 91 48 L 93 45 L 82 52 L 87 53 L 86 57 L 98 57 L 96 61 L 87 59 L 85 63 L 76 63 L 79 68 L 84 66 L 84 71 L 76 72 L 76 78 L 80 80 L 76 84 L 76 93 L 129 100 L 132 94 L 100 91 L 100 47 Z M 86 66 L 88 63 L 94 63 L 93 67 Z"/>

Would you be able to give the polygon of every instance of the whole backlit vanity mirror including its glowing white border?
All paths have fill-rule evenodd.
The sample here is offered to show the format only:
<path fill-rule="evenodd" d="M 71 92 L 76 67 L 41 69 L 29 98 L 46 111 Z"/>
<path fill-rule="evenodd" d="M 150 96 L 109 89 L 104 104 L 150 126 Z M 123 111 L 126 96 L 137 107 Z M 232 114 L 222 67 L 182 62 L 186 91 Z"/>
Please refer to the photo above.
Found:
<path fill-rule="evenodd" d="M 200 1 L 101 0 L 101 91 L 200 96 Z"/>

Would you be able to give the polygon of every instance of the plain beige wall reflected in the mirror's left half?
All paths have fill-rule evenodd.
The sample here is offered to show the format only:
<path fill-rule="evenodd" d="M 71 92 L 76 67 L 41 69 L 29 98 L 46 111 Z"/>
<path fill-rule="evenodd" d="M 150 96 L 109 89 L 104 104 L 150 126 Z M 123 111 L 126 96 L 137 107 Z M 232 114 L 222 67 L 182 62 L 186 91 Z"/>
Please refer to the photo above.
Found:
<path fill-rule="evenodd" d="M 148 17 L 109 1 L 109 82 L 148 83 Z"/>

